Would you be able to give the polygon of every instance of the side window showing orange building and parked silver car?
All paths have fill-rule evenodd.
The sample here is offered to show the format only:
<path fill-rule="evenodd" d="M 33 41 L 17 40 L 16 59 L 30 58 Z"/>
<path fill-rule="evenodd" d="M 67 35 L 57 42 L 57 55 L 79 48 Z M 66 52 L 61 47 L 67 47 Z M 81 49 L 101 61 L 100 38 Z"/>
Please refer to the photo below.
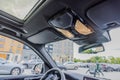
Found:
<path fill-rule="evenodd" d="M 23 43 L 0 35 L 0 45 L 0 75 L 31 75 L 35 74 L 34 68 L 37 64 L 44 64 L 41 58 Z"/>

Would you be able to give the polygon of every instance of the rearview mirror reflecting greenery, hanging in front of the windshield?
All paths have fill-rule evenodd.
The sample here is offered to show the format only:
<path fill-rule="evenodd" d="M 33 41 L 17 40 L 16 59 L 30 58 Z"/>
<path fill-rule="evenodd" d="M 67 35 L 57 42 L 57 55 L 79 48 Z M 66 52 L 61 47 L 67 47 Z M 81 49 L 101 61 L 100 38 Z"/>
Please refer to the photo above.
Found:
<path fill-rule="evenodd" d="M 88 54 L 95 54 L 103 51 L 104 51 L 104 46 L 102 44 L 89 44 L 79 48 L 79 53 L 82 52 Z"/>

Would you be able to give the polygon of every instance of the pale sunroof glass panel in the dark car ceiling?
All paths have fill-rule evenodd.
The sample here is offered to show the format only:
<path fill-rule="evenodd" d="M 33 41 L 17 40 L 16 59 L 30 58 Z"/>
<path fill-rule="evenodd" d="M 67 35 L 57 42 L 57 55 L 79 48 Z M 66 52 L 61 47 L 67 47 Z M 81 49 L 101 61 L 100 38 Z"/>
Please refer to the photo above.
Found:
<path fill-rule="evenodd" d="M 24 19 L 39 0 L 0 0 L 0 10 Z"/>

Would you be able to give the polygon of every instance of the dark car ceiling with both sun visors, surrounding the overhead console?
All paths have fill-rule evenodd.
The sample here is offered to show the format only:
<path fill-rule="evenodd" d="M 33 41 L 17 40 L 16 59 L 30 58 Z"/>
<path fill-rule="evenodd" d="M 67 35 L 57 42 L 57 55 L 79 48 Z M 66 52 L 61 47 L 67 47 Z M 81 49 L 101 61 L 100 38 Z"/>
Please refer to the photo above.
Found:
<path fill-rule="evenodd" d="M 114 7 L 116 3 L 117 6 Z M 78 44 L 108 42 L 110 39 L 106 38 L 103 33 L 119 26 L 120 18 L 116 19 L 120 12 L 119 3 L 119 0 L 116 0 L 116 2 L 114 0 L 43 0 L 43 3 L 36 7 L 25 21 L 13 18 L 11 18 L 13 21 L 8 19 L 3 20 L 8 20 L 8 23 L 13 22 L 9 24 L 12 27 L 5 25 L 7 27 L 4 28 L 14 33 L 17 32 L 17 34 L 20 34 L 18 37 L 35 44 L 45 44 L 67 39 L 64 35 L 56 31 L 48 23 L 48 20 L 56 13 L 69 8 L 95 31 L 93 34 L 87 36 L 81 35 L 77 39 L 71 40 Z M 114 15 L 112 15 L 111 9 L 114 10 Z M 110 13 L 107 13 L 109 15 L 106 15 L 107 10 Z"/>

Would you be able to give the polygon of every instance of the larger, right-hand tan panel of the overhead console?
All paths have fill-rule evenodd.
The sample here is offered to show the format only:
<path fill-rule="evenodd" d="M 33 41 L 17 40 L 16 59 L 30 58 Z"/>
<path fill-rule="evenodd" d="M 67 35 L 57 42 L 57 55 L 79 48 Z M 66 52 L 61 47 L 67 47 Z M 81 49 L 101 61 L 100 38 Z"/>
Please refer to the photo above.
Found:
<path fill-rule="evenodd" d="M 81 23 L 79 20 L 76 21 L 75 24 L 75 30 L 83 35 L 88 35 L 93 33 L 94 31 L 91 28 L 86 27 L 83 23 Z"/>

